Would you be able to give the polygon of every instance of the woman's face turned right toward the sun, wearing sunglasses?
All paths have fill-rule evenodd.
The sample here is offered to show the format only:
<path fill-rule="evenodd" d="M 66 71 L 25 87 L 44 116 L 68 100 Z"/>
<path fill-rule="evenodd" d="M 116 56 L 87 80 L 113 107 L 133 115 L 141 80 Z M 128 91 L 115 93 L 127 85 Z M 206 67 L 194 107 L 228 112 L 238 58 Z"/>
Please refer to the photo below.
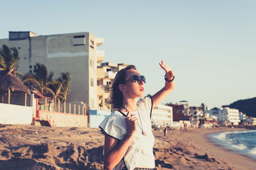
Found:
<path fill-rule="evenodd" d="M 132 81 L 132 76 L 138 75 L 141 76 L 140 73 L 135 69 L 127 70 L 126 72 L 126 78 L 124 83 L 124 97 L 126 98 L 138 98 L 138 97 L 144 97 L 144 84 L 145 82 L 134 82 Z"/>

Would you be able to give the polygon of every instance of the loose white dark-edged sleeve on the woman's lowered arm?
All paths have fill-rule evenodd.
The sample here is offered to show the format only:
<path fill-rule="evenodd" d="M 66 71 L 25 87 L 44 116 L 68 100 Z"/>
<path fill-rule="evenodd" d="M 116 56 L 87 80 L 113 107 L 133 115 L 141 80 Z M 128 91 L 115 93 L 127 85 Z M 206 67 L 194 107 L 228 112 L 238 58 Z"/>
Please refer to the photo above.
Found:
<path fill-rule="evenodd" d="M 124 118 L 113 113 L 100 123 L 99 128 L 103 134 L 107 134 L 120 141 L 127 132 L 127 125 Z"/>

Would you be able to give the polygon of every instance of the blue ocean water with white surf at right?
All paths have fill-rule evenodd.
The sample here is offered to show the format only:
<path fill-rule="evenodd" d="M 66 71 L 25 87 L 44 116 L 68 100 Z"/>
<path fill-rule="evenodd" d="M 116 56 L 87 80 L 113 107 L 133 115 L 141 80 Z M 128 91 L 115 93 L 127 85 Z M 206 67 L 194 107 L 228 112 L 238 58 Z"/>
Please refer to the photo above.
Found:
<path fill-rule="evenodd" d="M 209 134 L 214 143 L 256 160 L 256 130 Z"/>

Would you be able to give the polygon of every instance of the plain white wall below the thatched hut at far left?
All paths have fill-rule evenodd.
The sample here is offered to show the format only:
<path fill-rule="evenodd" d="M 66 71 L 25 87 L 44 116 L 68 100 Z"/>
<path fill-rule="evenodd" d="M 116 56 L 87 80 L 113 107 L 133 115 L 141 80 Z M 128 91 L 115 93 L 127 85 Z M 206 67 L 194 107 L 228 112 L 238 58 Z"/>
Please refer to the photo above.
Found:
<path fill-rule="evenodd" d="M 0 123 L 30 125 L 32 117 L 32 107 L 0 103 Z"/>

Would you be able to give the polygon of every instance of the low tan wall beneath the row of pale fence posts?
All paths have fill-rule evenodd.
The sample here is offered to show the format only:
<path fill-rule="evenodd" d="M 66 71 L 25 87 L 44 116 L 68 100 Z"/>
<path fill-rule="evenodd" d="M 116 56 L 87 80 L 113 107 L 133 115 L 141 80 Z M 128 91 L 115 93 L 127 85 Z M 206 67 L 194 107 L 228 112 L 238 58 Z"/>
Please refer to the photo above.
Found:
<path fill-rule="evenodd" d="M 40 120 L 51 120 L 56 127 L 88 127 L 86 115 L 38 111 Z"/>

